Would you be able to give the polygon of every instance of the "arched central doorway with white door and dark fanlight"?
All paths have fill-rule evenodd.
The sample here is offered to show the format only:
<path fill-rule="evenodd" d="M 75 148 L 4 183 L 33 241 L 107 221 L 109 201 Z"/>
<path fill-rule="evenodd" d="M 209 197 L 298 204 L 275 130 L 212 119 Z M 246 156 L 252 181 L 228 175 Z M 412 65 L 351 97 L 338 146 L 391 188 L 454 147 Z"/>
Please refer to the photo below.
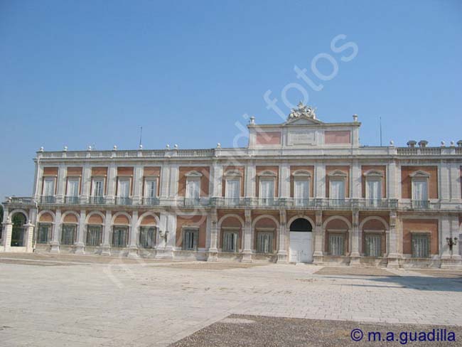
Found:
<path fill-rule="evenodd" d="M 290 227 L 290 262 L 313 262 L 313 225 L 306 218 L 297 218 Z"/>

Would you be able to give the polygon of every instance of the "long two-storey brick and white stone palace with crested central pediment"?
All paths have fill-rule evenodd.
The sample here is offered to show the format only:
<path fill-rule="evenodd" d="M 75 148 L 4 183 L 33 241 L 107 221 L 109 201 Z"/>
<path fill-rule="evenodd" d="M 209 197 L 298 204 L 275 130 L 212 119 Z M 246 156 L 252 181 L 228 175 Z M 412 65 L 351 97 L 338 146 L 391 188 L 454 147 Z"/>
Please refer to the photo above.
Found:
<path fill-rule="evenodd" d="M 299 104 L 245 148 L 43 151 L 3 252 L 462 267 L 462 141 L 362 146 Z M 141 146 L 140 146 L 141 147 Z"/>

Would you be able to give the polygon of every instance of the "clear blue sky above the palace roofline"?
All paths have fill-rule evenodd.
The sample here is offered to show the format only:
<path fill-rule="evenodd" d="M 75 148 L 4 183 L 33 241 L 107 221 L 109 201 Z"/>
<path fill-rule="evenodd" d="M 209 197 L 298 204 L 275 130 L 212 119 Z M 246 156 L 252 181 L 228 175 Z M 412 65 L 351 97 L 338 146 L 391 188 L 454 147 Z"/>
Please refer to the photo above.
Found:
<path fill-rule="evenodd" d="M 331 50 L 340 34 L 358 46 L 348 62 Z M 461 42 L 462 1 L 1 0 L 0 197 L 31 195 L 40 146 L 135 149 L 139 125 L 147 149 L 232 146 L 242 114 L 281 122 L 263 95 L 288 114 L 289 83 L 324 122 L 358 114 L 362 144 L 379 144 L 379 117 L 384 144 L 457 141 Z M 311 70 L 320 53 L 331 80 Z"/>

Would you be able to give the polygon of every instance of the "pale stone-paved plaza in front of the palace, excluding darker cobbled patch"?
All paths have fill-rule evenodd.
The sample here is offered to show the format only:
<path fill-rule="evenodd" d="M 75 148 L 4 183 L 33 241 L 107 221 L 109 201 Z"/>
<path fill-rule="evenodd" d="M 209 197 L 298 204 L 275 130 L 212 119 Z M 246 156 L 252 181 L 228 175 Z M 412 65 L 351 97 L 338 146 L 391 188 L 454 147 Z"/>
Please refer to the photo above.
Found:
<path fill-rule="evenodd" d="M 40 254 L 0 269 L 1 346 L 168 346 L 230 314 L 462 326 L 458 271 Z"/>

